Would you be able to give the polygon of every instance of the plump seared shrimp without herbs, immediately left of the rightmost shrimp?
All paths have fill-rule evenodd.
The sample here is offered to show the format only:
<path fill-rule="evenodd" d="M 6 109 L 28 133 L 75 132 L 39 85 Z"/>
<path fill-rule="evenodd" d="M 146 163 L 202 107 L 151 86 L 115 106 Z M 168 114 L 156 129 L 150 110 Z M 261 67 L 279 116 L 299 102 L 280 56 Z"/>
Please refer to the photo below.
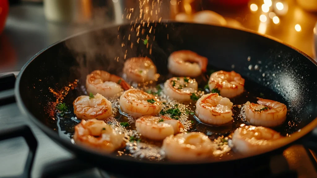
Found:
<path fill-rule="evenodd" d="M 196 103 L 196 115 L 200 121 L 208 124 L 220 125 L 233 120 L 233 103 L 218 93 L 203 95 Z"/>

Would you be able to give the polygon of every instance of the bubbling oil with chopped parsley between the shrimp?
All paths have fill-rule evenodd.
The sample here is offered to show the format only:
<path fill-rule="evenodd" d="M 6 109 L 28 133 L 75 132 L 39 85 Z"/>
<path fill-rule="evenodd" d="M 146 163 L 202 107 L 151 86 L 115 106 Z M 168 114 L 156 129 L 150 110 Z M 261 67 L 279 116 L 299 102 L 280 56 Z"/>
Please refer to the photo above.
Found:
<path fill-rule="evenodd" d="M 159 86 L 163 88 L 162 83 L 170 77 L 170 75 L 165 77 L 162 76 L 157 83 L 146 83 L 146 85 L 136 83 L 131 84 L 132 86 L 145 91 L 156 92 L 157 84 L 161 83 Z M 197 82 L 200 87 L 200 90 L 196 93 L 197 96 L 209 93 L 208 89 L 201 89 L 204 88 L 207 81 L 208 76 L 201 76 L 197 78 Z M 56 114 L 56 130 L 59 132 L 61 137 L 70 138 L 73 143 L 74 141 L 72 140 L 72 137 L 74 134 L 74 126 L 80 122 L 80 120 L 74 115 L 73 101 L 77 96 L 87 95 L 87 91 L 84 86 L 85 83 L 79 81 L 78 87 L 69 91 L 68 95 L 65 96 L 64 103 L 68 106 L 69 112 L 66 112 L 63 117 L 61 117 L 58 113 Z M 245 102 L 250 101 L 256 103 L 257 97 L 284 102 L 283 98 L 275 95 L 274 92 L 265 89 L 254 82 L 246 80 L 245 91 L 243 94 L 230 99 L 230 101 L 234 104 L 232 108 L 233 121 L 221 126 L 212 126 L 200 122 L 195 116 L 196 102 L 178 102 L 165 96 L 163 92 L 156 96 L 164 103 L 162 108 L 163 111 L 174 108 L 178 108 L 180 110 L 181 114 L 177 119 L 184 125 L 184 129 L 181 129 L 181 132 L 202 132 L 217 144 L 217 149 L 213 153 L 215 159 L 230 159 L 233 156 L 240 156 L 239 154 L 231 151 L 229 145 L 231 135 L 234 130 L 248 124 L 243 113 L 243 104 Z M 124 140 L 126 141 L 126 147 L 118 150 L 115 154 L 118 156 L 133 156 L 136 159 L 148 159 L 155 161 L 166 160 L 164 151 L 160 149 L 162 141 L 152 141 L 142 137 L 142 135 L 139 135 L 135 128 L 136 118 L 133 118 L 120 110 L 119 98 L 120 95 L 108 98 L 108 100 L 112 102 L 113 115 L 105 120 L 106 123 L 113 125 L 113 127 L 121 128 L 123 133 L 125 133 Z M 168 114 L 166 115 L 169 116 Z M 290 121 L 291 119 L 288 118 L 284 124 L 273 129 L 280 132 L 281 135 L 287 136 L 295 131 L 295 128 L 292 127 Z M 128 122 L 129 126 L 127 128 L 123 128 L 123 126 L 120 126 L 121 122 Z M 133 138 L 133 140 L 129 142 L 130 138 Z"/>

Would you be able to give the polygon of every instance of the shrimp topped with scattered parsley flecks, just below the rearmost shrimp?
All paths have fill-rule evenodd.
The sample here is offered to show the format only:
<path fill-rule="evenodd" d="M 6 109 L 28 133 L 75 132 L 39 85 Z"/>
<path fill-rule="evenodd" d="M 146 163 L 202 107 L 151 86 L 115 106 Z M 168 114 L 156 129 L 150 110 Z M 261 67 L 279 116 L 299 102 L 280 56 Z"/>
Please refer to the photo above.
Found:
<path fill-rule="evenodd" d="M 178 101 L 191 100 L 191 95 L 198 90 L 195 79 L 190 77 L 172 77 L 164 83 L 163 92 Z"/>

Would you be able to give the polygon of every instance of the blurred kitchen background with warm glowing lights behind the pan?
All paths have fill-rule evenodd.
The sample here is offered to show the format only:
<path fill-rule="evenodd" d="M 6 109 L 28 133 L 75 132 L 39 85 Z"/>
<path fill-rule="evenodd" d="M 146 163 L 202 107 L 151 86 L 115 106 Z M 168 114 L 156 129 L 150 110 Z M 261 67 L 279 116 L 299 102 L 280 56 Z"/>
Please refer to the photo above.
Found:
<path fill-rule="evenodd" d="M 316 60 L 317 0 L 0 0 L 0 73 L 63 38 L 141 16 L 253 30 Z"/>

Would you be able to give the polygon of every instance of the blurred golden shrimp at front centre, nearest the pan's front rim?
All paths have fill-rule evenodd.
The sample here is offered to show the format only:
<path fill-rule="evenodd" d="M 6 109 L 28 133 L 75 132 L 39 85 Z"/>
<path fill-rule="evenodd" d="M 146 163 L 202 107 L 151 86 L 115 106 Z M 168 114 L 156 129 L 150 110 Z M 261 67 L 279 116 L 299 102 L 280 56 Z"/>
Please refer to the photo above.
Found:
<path fill-rule="evenodd" d="M 166 137 L 162 149 L 169 160 L 197 161 L 211 156 L 215 144 L 203 133 L 191 132 Z"/>

